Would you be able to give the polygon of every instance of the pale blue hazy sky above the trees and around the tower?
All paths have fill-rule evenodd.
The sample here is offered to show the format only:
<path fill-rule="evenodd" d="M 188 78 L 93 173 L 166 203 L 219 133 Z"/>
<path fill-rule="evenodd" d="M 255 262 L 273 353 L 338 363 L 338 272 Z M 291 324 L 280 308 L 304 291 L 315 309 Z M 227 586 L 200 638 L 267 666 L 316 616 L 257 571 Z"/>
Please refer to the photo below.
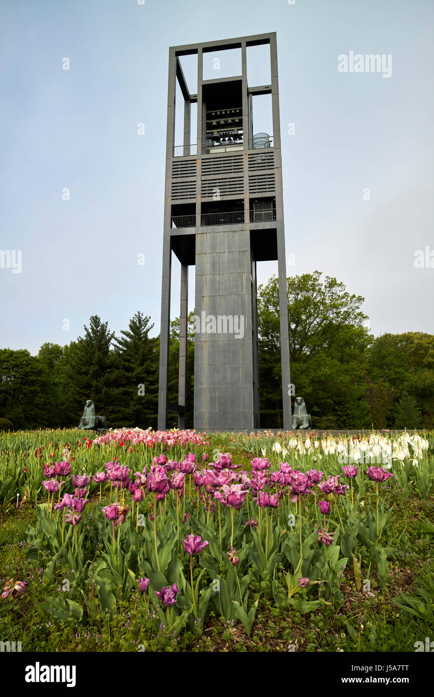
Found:
<path fill-rule="evenodd" d="M 375 335 L 434 333 L 432 0 L 0 0 L 0 16 L 0 250 L 15 270 L 21 254 L 0 268 L 0 347 L 67 344 L 91 314 L 119 332 L 138 309 L 159 332 L 169 46 L 269 31 L 288 275 L 364 296 Z M 339 72 L 350 52 L 384 69 Z M 433 268 L 415 268 L 426 247 Z"/>

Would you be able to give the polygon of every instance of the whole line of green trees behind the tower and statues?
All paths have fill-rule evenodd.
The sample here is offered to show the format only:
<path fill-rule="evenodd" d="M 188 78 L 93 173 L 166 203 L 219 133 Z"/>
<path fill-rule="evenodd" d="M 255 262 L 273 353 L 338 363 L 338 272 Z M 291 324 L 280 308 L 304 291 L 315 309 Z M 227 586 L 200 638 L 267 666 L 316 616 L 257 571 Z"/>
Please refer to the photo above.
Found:
<path fill-rule="evenodd" d="M 316 429 L 433 428 L 434 336 L 373 337 L 364 298 L 319 271 L 288 278 L 290 374 Z M 186 426 L 193 427 L 194 323 L 187 337 Z M 38 355 L 0 349 L 0 429 L 74 427 L 84 402 L 109 427 L 157 428 L 159 337 L 137 312 L 116 337 L 91 316 L 84 335 Z M 179 318 L 171 322 L 169 401 L 178 401 Z M 258 288 L 261 428 L 283 427 L 279 293 L 272 277 Z M 288 386 L 289 388 L 289 386 Z M 293 399 L 294 399 L 293 397 Z M 284 395 L 284 399 L 289 399 Z M 7 421 L 6 421 L 7 420 Z M 169 427 L 176 427 L 169 413 Z"/>

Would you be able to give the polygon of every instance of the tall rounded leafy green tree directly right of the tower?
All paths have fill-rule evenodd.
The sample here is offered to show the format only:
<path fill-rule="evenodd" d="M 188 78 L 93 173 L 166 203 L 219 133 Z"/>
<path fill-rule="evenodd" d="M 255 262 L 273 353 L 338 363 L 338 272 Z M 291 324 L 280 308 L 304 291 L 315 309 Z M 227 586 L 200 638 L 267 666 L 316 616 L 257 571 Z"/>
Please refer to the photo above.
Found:
<path fill-rule="evenodd" d="M 288 329 L 291 383 L 304 397 L 313 427 L 369 425 L 364 298 L 320 271 L 290 277 Z M 258 289 L 261 427 L 281 427 L 279 284 L 272 277 Z M 284 395 L 285 399 L 288 399 Z M 279 406 L 277 406 L 279 402 Z M 265 416 L 265 419 L 262 417 Z M 263 423 L 263 420 L 265 421 Z"/>

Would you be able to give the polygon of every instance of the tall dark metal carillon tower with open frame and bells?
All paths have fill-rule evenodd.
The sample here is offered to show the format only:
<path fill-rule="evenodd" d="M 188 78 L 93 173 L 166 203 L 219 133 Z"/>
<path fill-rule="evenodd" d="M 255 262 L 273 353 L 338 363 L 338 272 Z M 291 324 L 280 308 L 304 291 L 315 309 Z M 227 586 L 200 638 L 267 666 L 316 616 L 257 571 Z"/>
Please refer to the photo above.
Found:
<path fill-rule="evenodd" d="M 247 49 L 268 45 L 270 84 L 247 84 Z M 203 79 L 204 54 L 240 49 L 241 74 Z M 197 94 L 182 56 L 197 56 Z M 183 100 L 176 103 L 176 87 Z M 271 95 L 272 134 L 254 132 L 254 98 Z M 192 105 L 197 104 L 197 128 Z M 175 142 L 175 114 L 183 142 Z M 193 126 L 193 128 L 192 128 Z M 194 137 L 191 133 L 194 132 Z M 194 138 L 196 142 L 194 142 Z M 171 259 L 181 264 L 178 404 L 168 401 Z M 194 428 L 260 427 L 256 263 L 277 260 L 284 428 L 291 427 L 288 301 L 281 176 L 276 34 L 169 49 L 160 395 L 158 428 L 168 411 L 185 427 L 188 267 L 195 273 Z"/>

